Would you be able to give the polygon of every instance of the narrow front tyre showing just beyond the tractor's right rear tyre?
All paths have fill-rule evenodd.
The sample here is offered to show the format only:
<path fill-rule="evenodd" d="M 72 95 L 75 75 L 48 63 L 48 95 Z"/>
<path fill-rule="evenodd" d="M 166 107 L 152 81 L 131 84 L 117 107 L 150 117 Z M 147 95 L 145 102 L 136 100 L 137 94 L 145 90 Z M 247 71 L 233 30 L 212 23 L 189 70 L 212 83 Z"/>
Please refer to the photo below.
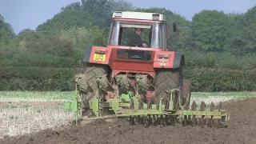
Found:
<path fill-rule="evenodd" d="M 185 79 L 183 81 L 182 89 L 183 89 L 182 90 L 183 91 L 183 94 L 182 94 L 182 106 L 183 106 L 185 104 L 185 102 L 186 102 L 186 98 L 191 95 L 191 81 L 189 79 Z M 188 99 L 189 106 L 190 106 L 190 99 L 191 98 Z"/>

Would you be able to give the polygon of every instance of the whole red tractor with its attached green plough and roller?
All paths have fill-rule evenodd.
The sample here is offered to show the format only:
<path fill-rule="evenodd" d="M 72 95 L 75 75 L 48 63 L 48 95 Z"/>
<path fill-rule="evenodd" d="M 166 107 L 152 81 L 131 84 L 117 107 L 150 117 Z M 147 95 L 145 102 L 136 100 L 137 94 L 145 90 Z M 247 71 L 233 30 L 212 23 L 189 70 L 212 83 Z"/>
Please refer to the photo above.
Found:
<path fill-rule="evenodd" d="M 177 30 L 175 24 L 173 29 Z M 144 35 L 139 35 L 141 30 Z M 86 49 L 86 70 L 75 79 L 77 94 L 64 107 L 77 120 L 129 117 L 132 123 L 135 118 L 149 124 L 174 119 L 186 125 L 198 120 L 204 124 L 209 118 L 210 126 L 214 121 L 220 126 L 229 119 L 221 103 L 218 110 L 213 102 L 210 110 L 205 102 L 199 110 L 195 101 L 190 106 L 190 81 L 183 81 L 184 54 L 169 51 L 167 39 L 163 14 L 114 12 L 107 46 Z"/>

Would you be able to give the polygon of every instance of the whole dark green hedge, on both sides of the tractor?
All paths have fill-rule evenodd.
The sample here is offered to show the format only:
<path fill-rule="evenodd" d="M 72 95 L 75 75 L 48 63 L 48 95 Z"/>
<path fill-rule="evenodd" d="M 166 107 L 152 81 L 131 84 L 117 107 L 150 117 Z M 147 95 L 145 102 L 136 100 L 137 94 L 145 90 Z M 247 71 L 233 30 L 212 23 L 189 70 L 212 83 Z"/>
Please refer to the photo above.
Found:
<path fill-rule="evenodd" d="M 74 68 L 1 67 L 0 90 L 74 90 Z M 185 68 L 193 91 L 256 90 L 256 69 Z"/>

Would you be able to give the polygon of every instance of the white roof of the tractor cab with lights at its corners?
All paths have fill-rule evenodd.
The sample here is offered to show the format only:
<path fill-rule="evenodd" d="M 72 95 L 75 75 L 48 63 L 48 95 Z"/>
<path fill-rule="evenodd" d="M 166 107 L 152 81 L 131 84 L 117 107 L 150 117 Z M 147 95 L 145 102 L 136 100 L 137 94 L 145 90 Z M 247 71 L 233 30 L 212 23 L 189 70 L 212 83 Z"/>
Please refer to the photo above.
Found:
<path fill-rule="evenodd" d="M 166 21 L 166 17 L 163 14 L 143 13 L 143 12 L 135 12 L 135 11 L 114 11 L 112 18 Z"/>

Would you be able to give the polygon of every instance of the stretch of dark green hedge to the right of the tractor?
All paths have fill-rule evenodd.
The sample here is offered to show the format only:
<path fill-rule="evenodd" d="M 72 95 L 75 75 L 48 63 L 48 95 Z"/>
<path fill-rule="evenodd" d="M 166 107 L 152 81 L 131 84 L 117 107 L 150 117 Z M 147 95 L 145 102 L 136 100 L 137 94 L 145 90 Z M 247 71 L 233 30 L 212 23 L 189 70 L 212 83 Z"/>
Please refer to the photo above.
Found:
<path fill-rule="evenodd" d="M 186 68 L 185 77 L 193 85 L 193 91 L 253 91 L 256 90 L 256 69 L 228 70 Z"/>

